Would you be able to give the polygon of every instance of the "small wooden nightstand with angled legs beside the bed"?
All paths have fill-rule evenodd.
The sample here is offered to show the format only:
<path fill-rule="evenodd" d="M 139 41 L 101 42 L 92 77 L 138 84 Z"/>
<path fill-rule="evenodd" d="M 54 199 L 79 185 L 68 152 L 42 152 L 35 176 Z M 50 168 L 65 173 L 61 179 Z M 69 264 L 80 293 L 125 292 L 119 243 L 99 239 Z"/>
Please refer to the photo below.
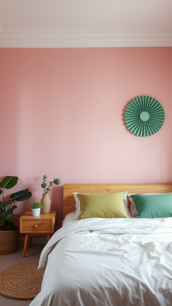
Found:
<path fill-rule="evenodd" d="M 27 211 L 20 217 L 20 233 L 24 233 L 23 257 L 26 254 L 26 248 L 30 248 L 33 235 L 46 235 L 50 240 L 50 233 L 54 233 L 57 226 L 57 211 L 50 211 L 49 214 L 40 214 L 38 217 L 32 216 L 32 211 Z"/>

